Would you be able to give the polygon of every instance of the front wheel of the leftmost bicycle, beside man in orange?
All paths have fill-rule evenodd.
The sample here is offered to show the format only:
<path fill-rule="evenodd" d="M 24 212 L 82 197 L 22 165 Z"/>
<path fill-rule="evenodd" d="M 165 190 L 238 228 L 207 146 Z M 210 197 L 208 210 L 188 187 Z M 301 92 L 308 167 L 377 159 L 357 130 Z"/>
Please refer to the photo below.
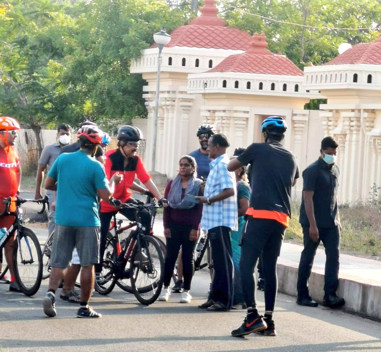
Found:
<path fill-rule="evenodd" d="M 13 245 L 14 276 L 22 293 L 34 295 L 42 280 L 42 253 L 35 233 L 21 227 Z"/>

